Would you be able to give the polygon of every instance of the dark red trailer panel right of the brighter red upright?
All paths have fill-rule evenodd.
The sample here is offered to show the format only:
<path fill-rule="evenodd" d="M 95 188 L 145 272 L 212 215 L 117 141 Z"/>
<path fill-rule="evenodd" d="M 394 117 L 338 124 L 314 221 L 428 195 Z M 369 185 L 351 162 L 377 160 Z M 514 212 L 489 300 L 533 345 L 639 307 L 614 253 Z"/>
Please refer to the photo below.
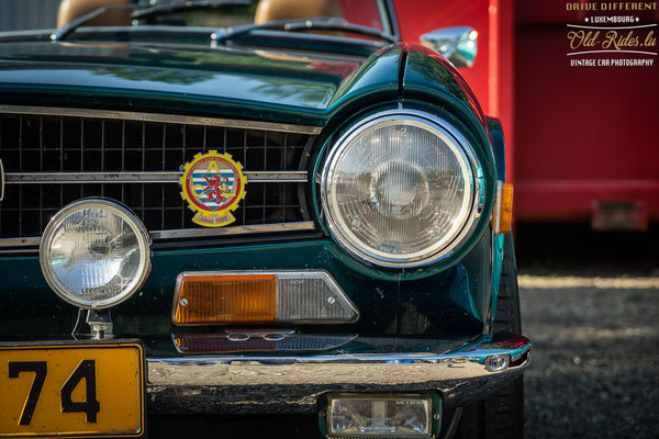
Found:
<path fill-rule="evenodd" d="M 657 23 L 658 12 L 572 11 L 567 3 L 517 1 L 517 219 L 597 221 L 617 205 L 618 214 L 635 209 L 639 222 L 628 225 L 643 227 L 644 218 L 659 221 L 659 58 L 651 67 L 573 66 L 567 24 L 593 15 Z M 592 55 L 613 57 L 629 55 Z"/>

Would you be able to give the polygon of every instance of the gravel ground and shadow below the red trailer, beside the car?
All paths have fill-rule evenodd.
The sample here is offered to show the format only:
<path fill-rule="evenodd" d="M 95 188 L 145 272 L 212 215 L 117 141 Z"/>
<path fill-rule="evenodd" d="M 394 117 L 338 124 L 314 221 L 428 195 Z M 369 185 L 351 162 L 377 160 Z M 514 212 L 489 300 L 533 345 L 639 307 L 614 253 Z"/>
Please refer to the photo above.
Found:
<path fill-rule="evenodd" d="M 659 438 L 657 230 L 538 230 L 517 234 L 523 331 L 534 341 L 525 436 Z"/>

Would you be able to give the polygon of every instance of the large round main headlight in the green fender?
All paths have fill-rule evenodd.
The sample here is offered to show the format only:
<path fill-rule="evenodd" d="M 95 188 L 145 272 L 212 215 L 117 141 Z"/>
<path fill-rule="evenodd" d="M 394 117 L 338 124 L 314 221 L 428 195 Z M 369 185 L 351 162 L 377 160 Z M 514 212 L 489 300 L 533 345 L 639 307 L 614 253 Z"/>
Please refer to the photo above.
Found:
<path fill-rule="evenodd" d="M 446 255 L 473 221 L 478 191 L 467 140 L 444 121 L 406 113 L 376 116 L 346 133 L 322 180 L 333 237 L 383 267 Z"/>

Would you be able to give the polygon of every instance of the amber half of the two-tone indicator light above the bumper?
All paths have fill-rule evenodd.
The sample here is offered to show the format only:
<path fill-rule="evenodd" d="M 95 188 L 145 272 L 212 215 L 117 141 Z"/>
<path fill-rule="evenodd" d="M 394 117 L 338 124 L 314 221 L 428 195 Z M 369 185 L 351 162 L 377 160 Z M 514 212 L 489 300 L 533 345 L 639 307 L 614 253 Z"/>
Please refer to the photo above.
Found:
<path fill-rule="evenodd" d="M 277 320 L 275 274 L 197 274 L 182 277 L 176 325 L 250 324 Z"/>

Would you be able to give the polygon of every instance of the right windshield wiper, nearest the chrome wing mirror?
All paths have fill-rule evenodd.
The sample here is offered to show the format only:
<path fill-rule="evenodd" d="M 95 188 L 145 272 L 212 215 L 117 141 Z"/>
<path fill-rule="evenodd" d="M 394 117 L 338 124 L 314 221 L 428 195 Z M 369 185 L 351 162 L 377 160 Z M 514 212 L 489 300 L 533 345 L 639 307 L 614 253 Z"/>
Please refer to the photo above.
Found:
<path fill-rule="evenodd" d="M 345 31 L 353 34 L 372 36 L 395 43 L 395 36 L 373 27 L 348 23 L 346 20 L 335 16 L 316 16 L 313 19 L 275 20 L 263 24 L 245 24 L 234 27 L 220 29 L 211 35 L 216 44 L 225 44 L 227 41 L 247 35 L 254 31 Z"/>

